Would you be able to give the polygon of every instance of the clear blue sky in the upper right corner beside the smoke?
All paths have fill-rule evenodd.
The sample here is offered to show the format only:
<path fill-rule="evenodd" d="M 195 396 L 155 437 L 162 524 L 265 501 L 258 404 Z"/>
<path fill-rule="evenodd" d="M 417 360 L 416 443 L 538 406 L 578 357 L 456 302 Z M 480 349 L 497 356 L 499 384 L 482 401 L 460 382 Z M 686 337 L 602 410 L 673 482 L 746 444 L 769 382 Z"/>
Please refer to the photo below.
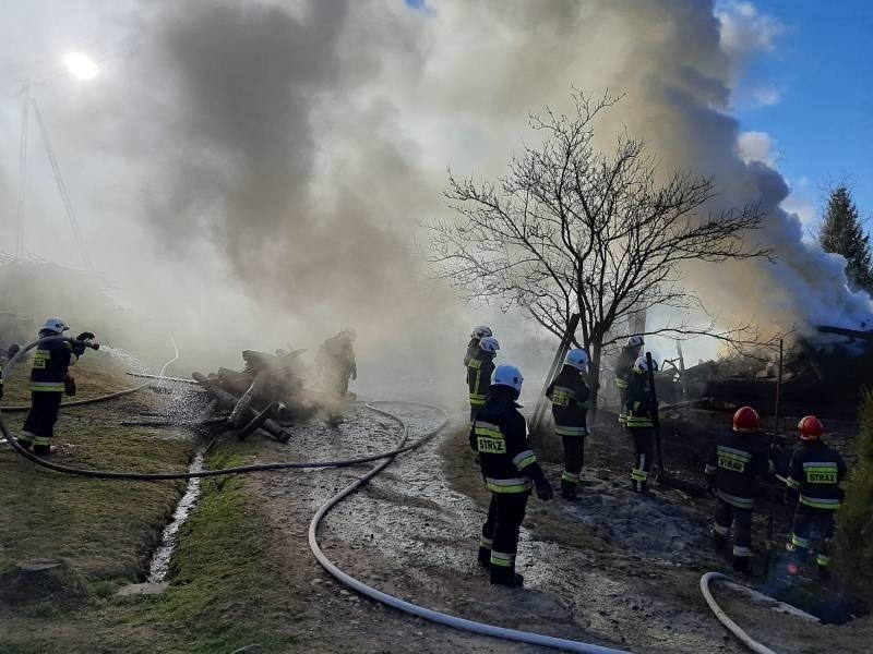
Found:
<path fill-rule="evenodd" d="M 751 59 L 736 110 L 743 130 L 773 138 L 776 165 L 792 186 L 787 208 L 817 213 L 821 187 L 847 177 L 862 217 L 873 217 L 873 3 L 754 7 L 773 21 L 773 40 Z"/>

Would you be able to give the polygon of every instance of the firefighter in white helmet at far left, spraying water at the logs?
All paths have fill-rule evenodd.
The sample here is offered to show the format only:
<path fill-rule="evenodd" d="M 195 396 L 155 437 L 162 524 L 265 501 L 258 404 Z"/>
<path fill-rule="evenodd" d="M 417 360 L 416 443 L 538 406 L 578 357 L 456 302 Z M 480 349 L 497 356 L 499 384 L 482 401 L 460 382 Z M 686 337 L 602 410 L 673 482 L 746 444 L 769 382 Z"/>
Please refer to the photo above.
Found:
<path fill-rule="evenodd" d="M 39 330 L 39 338 L 61 336 L 70 329 L 61 318 L 48 318 Z M 75 382 L 70 376 L 70 366 L 85 353 L 86 339 L 93 334 L 84 332 L 74 343 L 53 340 L 43 343 L 34 351 L 31 370 L 31 411 L 24 422 L 19 443 L 35 455 L 51 453 L 51 438 L 58 422 L 61 399 L 64 392 L 75 395 Z"/>

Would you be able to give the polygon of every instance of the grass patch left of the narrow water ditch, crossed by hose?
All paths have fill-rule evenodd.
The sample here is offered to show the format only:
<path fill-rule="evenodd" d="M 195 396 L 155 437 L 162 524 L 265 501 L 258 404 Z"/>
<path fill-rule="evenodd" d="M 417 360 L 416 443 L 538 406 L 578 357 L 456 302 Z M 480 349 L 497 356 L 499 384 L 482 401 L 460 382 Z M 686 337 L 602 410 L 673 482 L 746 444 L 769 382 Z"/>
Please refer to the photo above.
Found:
<path fill-rule="evenodd" d="M 191 455 L 190 443 L 156 441 L 145 429 L 92 425 L 67 435 L 61 441 L 75 449 L 61 462 L 76 468 L 183 470 Z M 59 558 L 89 579 L 135 581 L 145 573 L 183 487 L 182 482 L 58 474 L 5 449 L 0 455 L 0 567 Z"/>

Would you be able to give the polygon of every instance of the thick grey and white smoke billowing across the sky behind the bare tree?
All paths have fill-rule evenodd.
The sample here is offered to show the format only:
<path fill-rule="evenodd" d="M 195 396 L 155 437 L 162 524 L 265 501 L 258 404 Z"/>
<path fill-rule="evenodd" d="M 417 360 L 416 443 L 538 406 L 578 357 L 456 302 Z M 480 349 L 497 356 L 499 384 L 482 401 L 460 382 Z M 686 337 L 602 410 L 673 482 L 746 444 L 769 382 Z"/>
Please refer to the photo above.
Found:
<path fill-rule="evenodd" d="M 143 330 L 172 332 L 192 361 L 218 365 L 242 348 L 314 348 L 355 326 L 362 373 L 369 366 L 392 387 L 461 384 L 471 325 L 497 323 L 504 360 L 518 360 L 537 331 L 517 315 L 462 306 L 428 281 L 416 240 L 426 238 L 421 225 L 447 210 L 446 166 L 498 174 L 530 138 L 529 110 L 566 108 L 571 86 L 609 88 L 626 97 L 600 124 L 605 146 L 626 125 L 665 170 L 715 175 L 720 206 L 761 202 L 768 213 L 755 238 L 775 249 L 777 263 L 687 270 L 713 313 L 770 330 L 859 327 L 869 302 L 846 290 L 842 259 L 804 244 L 798 218 L 779 208 L 788 186 L 756 160 L 766 157 L 730 116 L 743 66 L 772 37 L 749 7 L 43 0 L 7 8 L 0 247 L 14 249 L 15 92 L 31 77 L 44 82 L 32 93 L 92 258 Z M 71 49 L 98 60 L 96 80 L 58 73 L 56 53 Z M 26 249 L 81 267 L 40 148 L 36 136 Z M 87 326 L 99 331 L 99 316 Z"/>

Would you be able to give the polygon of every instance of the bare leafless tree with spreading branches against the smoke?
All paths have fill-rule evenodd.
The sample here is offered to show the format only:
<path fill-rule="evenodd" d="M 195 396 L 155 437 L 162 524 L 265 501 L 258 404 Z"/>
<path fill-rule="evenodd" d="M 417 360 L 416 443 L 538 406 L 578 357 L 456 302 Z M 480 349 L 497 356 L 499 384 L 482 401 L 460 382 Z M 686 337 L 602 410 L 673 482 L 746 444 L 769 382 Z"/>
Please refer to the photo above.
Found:
<path fill-rule="evenodd" d="M 613 152 L 595 148 L 595 118 L 620 98 L 591 99 L 577 90 L 573 98 L 575 116 L 549 108 L 530 116 L 541 145 L 525 145 L 497 182 L 458 179 L 450 170 L 445 197 L 461 220 L 429 226 L 426 256 L 465 299 L 521 306 L 558 337 L 581 314 L 575 342 L 589 350 L 596 382 L 605 349 L 619 338 L 613 327 L 629 316 L 654 306 L 703 310 L 682 284 L 684 263 L 769 251 L 744 240 L 762 225 L 758 206 L 707 211 L 717 195 L 711 179 L 658 175 L 657 159 L 626 132 Z M 710 319 L 645 334 L 705 334 L 736 344 L 754 341 L 752 330 L 718 330 Z"/>

